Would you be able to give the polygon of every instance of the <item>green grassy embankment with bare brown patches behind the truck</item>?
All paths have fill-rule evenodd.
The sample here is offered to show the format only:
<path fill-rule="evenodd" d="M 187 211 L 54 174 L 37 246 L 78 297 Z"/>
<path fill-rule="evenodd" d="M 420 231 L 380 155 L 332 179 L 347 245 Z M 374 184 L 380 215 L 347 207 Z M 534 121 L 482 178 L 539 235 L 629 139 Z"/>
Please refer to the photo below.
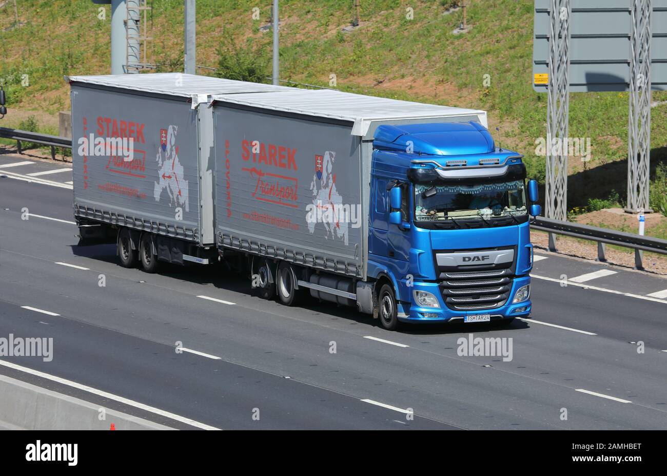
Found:
<path fill-rule="evenodd" d="M 183 1 L 150 3 L 149 59 L 159 71 L 181 71 Z M 281 79 L 329 86 L 335 78 L 345 91 L 486 109 L 497 142 L 526 154 L 530 176 L 544 180 L 535 141 L 546 134 L 546 95 L 532 90 L 532 0 L 469 0 L 472 29 L 463 35 L 452 33 L 462 19 L 461 10 L 448 13 L 452 1 L 360 3 L 360 27 L 344 32 L 352 0 L 282 0 Z M 30 113 L 53 132 L 55 113 L 69 108 L 63 75 L 109 72 L 111 13 L 107 5 L 100 19 L 101 5 L 90 0 L 18 4 L 21 25 L 13 26 L 13 2 L 0 1 L 0 81 L 10 109 L 0 125 L 18 126 Z M 267 0 L 197 1 L 197 64 L 217 67 L 221 53 L 240 50 L 268 75 L 271 32 L 262 27 L 270 11 Z M 666 103 L 652 109 L 653 167 L 667 162 L 667 93 L 654 101 Z M 627 127 L 627 93 L 572 94 L 570 136 L 590 138 L 592 158 L 570 159 L 570 208 L 607 200 L 612 190 L 624 202 Z"/>

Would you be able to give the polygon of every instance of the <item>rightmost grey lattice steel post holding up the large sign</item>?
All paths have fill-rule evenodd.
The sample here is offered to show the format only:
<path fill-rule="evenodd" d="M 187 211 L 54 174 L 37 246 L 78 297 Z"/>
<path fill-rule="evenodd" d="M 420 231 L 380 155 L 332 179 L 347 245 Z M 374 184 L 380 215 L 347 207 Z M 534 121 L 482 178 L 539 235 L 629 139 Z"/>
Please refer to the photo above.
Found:
<path fill-rule="evenodd" d="M 651 12 L 652 0 L 631 0 L 630 113 L 628 117 L 628 206 L 649 210 L 651 153 Z"/>

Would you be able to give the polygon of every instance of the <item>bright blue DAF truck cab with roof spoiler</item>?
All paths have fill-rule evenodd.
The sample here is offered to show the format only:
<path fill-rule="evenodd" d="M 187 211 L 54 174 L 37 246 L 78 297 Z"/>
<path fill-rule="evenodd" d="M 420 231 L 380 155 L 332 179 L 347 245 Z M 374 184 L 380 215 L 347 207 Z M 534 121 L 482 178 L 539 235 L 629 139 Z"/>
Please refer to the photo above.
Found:
<path fill-rule="evenodd" d="M 477 122 L 382 125 L 373 146 L 368 276 L 382 326 L 528 316 L 541 210 L 521 154 Z"/>

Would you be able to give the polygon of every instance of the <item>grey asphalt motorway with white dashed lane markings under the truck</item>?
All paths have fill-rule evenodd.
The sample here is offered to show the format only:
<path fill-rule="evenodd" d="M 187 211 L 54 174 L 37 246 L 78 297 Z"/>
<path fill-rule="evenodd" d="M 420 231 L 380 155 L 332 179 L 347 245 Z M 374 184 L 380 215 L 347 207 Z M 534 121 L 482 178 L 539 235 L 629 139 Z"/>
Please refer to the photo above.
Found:
<path fill-rule="evenodd" d="M 562 286 L 611 268 L 550 255 L 532 320 L 388 332 L 350 308 L 261 300 L 224 266 L 122 268 L 114 246 L 75 246 L 72 221 L 71 190 L 0 178 L 0 337 L 54 346 L 50 362 L 1 356 L 0 373 L 180 429 L 667 427 L 667 299 L 646 297 L 662 278 Z M 458 355 L 471 332 L 512 338 L 512 360 Z"/>

